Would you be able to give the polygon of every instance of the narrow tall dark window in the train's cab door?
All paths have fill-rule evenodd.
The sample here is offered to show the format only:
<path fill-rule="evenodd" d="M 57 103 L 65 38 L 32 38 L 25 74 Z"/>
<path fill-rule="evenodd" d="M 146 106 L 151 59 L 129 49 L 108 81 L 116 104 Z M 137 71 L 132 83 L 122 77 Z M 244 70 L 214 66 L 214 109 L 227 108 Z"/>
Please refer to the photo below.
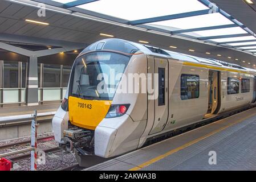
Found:
<path fill-rule="evenodd" d="M 159 106 L 165 105 L 165 68 L 159 68 Z"/>

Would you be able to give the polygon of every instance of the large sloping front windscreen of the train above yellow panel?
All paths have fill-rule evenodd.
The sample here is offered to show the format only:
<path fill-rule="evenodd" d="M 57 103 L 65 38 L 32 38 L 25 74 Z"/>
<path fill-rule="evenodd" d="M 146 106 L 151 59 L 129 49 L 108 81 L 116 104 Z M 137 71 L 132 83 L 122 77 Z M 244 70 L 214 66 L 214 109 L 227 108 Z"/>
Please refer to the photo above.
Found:
<path fill-rule="evenodd" d="M 72 73 L 72 96 L 113 100 L 129 59 L 113 52 L 93 52 L 78 57 Z"/>

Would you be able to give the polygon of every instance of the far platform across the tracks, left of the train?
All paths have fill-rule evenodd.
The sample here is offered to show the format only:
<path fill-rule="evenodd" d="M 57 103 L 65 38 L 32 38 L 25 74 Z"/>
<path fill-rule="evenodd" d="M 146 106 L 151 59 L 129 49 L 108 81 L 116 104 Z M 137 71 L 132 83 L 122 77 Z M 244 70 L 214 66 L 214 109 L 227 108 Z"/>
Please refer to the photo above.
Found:
<path fill-rule="evenodd" d="M 51 133 L 52 117 L 54 117 L 59 106 L 60 103 L 37 106 L 6 107 L 0 109 L 0 141 L 30 136 L 31 119 L 15 121 L 15 118 L 22 118 L 23 115 L 33 114 L 35 110 L 39 114 L 37 118 L 39 123 L 38 134 Z M 6 122 L 5 118 L 8 118 L 10 122 Z"/>

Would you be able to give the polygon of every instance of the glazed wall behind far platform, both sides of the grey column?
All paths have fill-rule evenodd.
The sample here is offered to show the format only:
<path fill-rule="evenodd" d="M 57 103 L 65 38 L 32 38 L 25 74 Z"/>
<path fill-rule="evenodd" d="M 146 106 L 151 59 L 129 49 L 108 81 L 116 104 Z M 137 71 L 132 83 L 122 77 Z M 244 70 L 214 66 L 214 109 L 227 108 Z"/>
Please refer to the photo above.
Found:
<path fill-rule="evenodd" d="M 38 64 L 38 100 L 62 101 L 71 73 L 71 65 Z M 26 104 L 27 63 L 0 60 L 0 107 Z"/>

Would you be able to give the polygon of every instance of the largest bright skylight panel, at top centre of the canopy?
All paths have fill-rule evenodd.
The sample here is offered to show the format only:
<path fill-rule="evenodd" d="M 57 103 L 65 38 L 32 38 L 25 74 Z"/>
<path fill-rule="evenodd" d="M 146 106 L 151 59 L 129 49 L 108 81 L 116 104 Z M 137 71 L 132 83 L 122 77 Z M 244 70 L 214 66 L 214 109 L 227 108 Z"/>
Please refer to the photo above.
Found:
<path fill-rule="evenodd" d="M 96 13 L 126 20 L 138 20 L 157 16 L 206 10 L 197 0 L 100 0 L 77 6 Z"/>

